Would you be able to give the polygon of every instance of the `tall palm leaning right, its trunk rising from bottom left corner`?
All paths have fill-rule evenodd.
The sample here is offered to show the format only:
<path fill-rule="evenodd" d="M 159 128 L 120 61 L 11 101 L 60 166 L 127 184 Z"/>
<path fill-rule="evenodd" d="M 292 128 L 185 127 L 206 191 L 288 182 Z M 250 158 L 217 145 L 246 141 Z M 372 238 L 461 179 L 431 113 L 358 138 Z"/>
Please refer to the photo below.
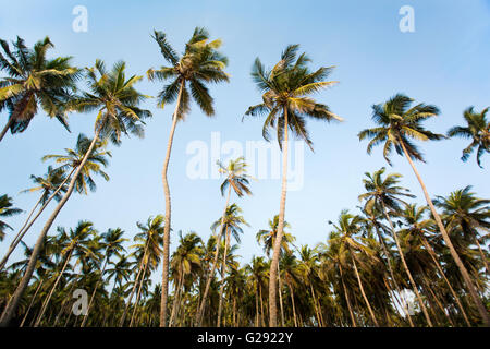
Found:
<path fill-rule="evenodd" d="M 17 308 L 33 275 L 34 266 L 41 249 L 42 238 L 48 233 L 58 214 L 72 195 L 75 185 L 79 181 L 79 176 L 90 169 L 86 165 L 96 146 L 107 139 L 110 139 L 114 144 L 120 144 L 122 134 L 133 133 L 137 136 L 143 136 L 142 119 L 151 116 L 150 111 L 137 107 L 147 97 L 134 88 L 134 85 L 143 76 L 134 75 L 126 80 L 124 71 L 124 62 L 115 63 L 113 69 L 108 72 L 103 62 L 97 60 L 94 68 L 86 69 L 90 92 L 85 92 L 82 96 L 69 103 L 71 110 L 93 111 L 98 109 L 94 139 L 90 141 L 82 161 L 76 168 L 66 193 L 39 233 L 32 261 L 9 305 L 3 311 L 0 326 L 7 326 L 12 318 L 13 312 Z"/>

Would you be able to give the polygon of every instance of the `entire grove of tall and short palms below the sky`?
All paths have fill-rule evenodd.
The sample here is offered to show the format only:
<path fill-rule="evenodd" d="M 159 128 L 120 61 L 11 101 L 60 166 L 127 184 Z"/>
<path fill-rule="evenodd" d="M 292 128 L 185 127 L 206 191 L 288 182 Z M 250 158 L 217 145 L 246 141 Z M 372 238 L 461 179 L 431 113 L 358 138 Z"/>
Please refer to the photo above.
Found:
<path fill-rule="evenodd" d="M 166 210 L 135 222 L 133 231 L 99 231 L 89 220 L 52 228 L 72 194 L 86 195 L 109 180 L 110 144 L 119 145 L 130 133 L 143 137 L 151 112 L 138 107 L 148 96 L 135 86 L 144 76 L 126 77 L 124 62 L 108 69 L 97 60 L 78 69 L 68 57 L 48 59 L 49 38 L 33 48 L 22 38 L 12 45 L 0 40 L 0 111 L 8 116 L 0 142 L 8 131 L 22 133 L 41 111 L 66 128 L 70 113 L 96 115 L 94 134 L 79 134 L 71 148 L 42 158 L 47 171 L 30 178 L 26 192 L 37 198 L 34 207 L 23 207 L 22 227 L 9 226 L 9 217 L 24 210 L 8 194 L 0 196 L 0 241 L 10 241 L 0 262 L 2 326 L 490 326 L 490 201 L 471 186 L 431 197 L 417 171 L 415 161 L 425 159 L 414 142 L 466 137 L 470 144 L 462 159 L 476 149 L 481 167 L 490 152 L 488 109 L 468 108 L 464 124 L 442 135 L 422 125 L 440 113 L 436 106 L 402 94 L 373 105 L 375 127 L 360 131 L 359 140 L 369 140 L 369 154 L 380 145 L 389 165 L 393 149 L 404 156 L 427 206 L 417 204 L 402 174 L 381 168 L 359 178 L 365 191 L 358 206 L 339 209 L 317 245 L 302 245 L 301 232 L 285 219 L 287 141 L 297 136 L 313 149 L 307 119 L 343 120 L 311 97 L 335 84 L 327 81 L 332 68 L 311 70 L 297 45 L 286 47 L 270 70 L 257 59 L 252 77 L 261 103 L 244 118 L 264 116 L 264 137 L 277 134 L 282 191 L 279 212 L 271 210 L 256 233 L 264 255 L 241 265 L 237 249 L 249 237 L 243 237 L 248 224 L 240 202 L 254 191 L 246 159 L 217 164 L 224 205 L 221 216 L 209 219 L 208 240 L 172 226 L 167 179 L 176 125 L 193 100 L 206 116 L 215 113 L 208 85 L 229 81 L 228 58 L 219 51 L 221 41 L 210 40 L 204 28 L 194 31 L 182 55 L 164 33 L 152 38 L 169 65 L 146 75 L 163 83 L 157 107 L 174 104 L 162 170 Z M 27 245 L 23 239 L 35 233 L 30 228 L 48 207 L 52 210 L 36 243 Z M 172 254 L 171 233 L 179 238 Z M 21 251 L 24 258 L 11 261 Z M 155 284 L 160 265 L 161 282 Z M 73 294 L 81 289 L 88 298 L 86 312 L 78 314 Z"/>

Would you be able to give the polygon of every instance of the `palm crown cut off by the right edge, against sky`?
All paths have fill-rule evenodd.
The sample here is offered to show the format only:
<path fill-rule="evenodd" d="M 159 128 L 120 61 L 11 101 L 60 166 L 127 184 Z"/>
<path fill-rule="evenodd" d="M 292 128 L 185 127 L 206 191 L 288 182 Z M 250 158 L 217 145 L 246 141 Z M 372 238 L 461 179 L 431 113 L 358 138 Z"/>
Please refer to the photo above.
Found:
<path fill-rule="evenodd" d="M 490 122 L 487 121 L 489 108 L 481 112 L 475 112 L 474 107 L 469 107 L 463 113 L 467 127 L 454 127 L 448 131 L 450 137 L 470 139 L 471 144 L 463 151 L 461 159 L 466 161 L 475 148 L 477 149 L 477 164 L 481 167 L 480 158 L 485 153 L 490 152 Z"/>

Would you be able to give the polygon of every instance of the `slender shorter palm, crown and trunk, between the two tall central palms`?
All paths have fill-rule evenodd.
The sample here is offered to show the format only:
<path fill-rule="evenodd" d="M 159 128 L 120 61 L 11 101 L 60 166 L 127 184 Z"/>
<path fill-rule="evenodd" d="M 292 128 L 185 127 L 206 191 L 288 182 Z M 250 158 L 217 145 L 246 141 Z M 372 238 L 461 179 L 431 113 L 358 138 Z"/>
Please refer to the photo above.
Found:
<path fill-rule="evenodd" d="M 219 242 L 221 241 L 221 237 L 222 237 L 223 232 L 228 231 L 226 228 L 230 228 L 230 227 L 225 227 L 224 220 L 226 218 L 226 213 L 230 209 L 229 203 L 230 203 L 232 189 L 238 197 L 242 197 L 244 194 L 252 195 L 252 192 L 248 189 L 249 176 L 247 174 L 247 171 L 246 171 L 247 164 L 245 163 L 245 159 L 243 157 L 238 157 L 237 159 L 234 159 L 234 160 L 231 159 L 226 167 L 223 166 L 223 164 L 221 164 L 221 161 L 218 161 L 217 165 L 219 167 L 219 172 L 225 176 L 225 179 L 220 188 L 221 195 L 224 196 L 225 195 L 224 193 L 226 192 L 226 190 L 228 190 L 228 194 L 226 194 L 226 202 L 224 205 L 223 214 L 221 215 L 221 220 L 220 220 L 219 225 L 217 221 L 211 226 L 212 230 L 216 230 L 218 227 L 220 229 L 218 231 L 218 238 L 217 238 L 218 243 L 217 243 L 217 250 L 215 252 L 215 261 L 213 261 L 212 267 L 209 272 L 209 275 L 208 275 L 208 278 L 206 281 L 205 291 L 204 291 L 204 294 L 201 298 L 201 303 L 200 303 L 198 312 L 197 312 L 196 323 L 198 325 L 200 325 L 201 321 L 203 321 L 204 308 L 207 302 L 209 287 L 211 285 L 211 279 L 212 279 L 212 276 L 215 275 L 215 272 L 216 272 L 216 268 L 218 265 Z M 233 208 L 232 212 L 233 210 L 236 210 L 236 208 Z M 226 248 L 228 248 L 228 243 L 226 243 Z"/>

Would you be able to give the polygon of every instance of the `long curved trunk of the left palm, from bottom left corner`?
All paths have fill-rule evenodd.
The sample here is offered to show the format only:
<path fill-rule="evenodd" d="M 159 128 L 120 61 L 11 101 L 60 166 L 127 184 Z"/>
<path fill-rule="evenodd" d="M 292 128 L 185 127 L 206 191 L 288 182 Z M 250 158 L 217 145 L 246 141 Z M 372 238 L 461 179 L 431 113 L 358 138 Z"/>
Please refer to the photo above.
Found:
<path fill-rule="evenodd" d="M 82 159 L 82 163 L 77 167 L 75 174 L 73 176 L 72 180 L 70 181 L 70 185 L 66 190 L 66 193 L 63 195 L 63 198 L 58 203 L 58 206 L 54 208 L 54 212 L 49 217 L 48 221 L 46 222 L 45 227 L 42 228 L 41 232 L 39 233 L 39 237 L 36 241 L 36 245 L 34 246 L 33 254 L 30 255 L 29 263 L 27 265 L 27 268 L 25 270 L 25 274 L 19 284 L 17 288 L 15 289 L 15 292 L 13 293 L 9 304 L 3 310 L 2 316 L 0 318 L 0 327 L 7 327 L 16 311 L 19 306 L 19 302 L 21 301 L 22 297 L 24 296 L 24 292 L 27 288 L 27 285 L 29 284 L 30 277 L 33 276 L 34 269 L 36 267 L 36 262 L 39 256 L 39 253 L 42 249 L 42 241 L 48 233 L 48 230 L 51 228 L 52 224 L 54 222 L 54 219 L 58 217 L 58 214 L 63 208 L 64 204 L 68 202 L 70 196 L 73 193 L 73 190 L 75 189 L 76 180 L 82 172 L 82 169 L 84 168 L 85 164 L 87 163 L 88 157 L 90 156 L 91 152 L 94 151 L 94 147 L 99 139 L 99 130 L 96 131 L 94 135 L 94 140 L 91 141 L 90 146 L 88 147 L 87 154 L 85 154 L 84 158 Z"/>

